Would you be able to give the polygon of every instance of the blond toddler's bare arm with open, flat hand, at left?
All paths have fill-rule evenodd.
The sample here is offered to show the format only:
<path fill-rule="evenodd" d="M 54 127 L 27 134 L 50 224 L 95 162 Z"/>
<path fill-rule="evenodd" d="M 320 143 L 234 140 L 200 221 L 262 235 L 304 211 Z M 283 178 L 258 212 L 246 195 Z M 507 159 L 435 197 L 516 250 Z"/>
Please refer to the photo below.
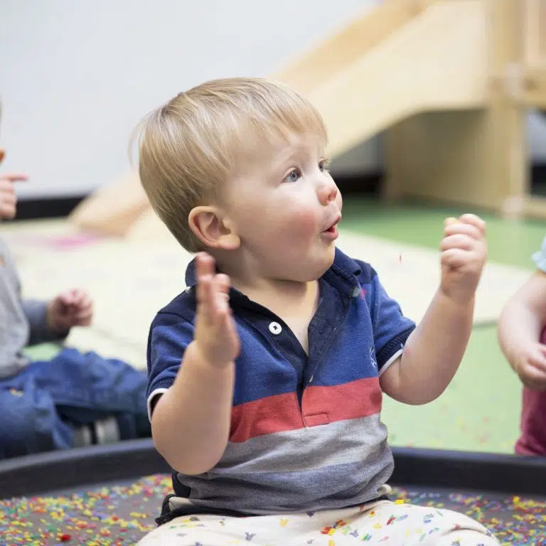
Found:
<path fill-rule="evenodd" d="M 228 304 L 230 281 L 210 256 L 197 257 L 196 334 L 173 385 L 151 418 L 156 448 L 173 469 L 199 474 L 218 463 L 228 444 L 239 338 Z"/>

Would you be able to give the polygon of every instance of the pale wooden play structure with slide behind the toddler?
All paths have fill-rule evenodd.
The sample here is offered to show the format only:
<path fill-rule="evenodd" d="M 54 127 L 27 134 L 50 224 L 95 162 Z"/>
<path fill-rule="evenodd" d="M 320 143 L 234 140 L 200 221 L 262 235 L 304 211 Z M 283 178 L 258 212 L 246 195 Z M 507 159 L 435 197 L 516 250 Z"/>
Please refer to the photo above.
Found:
<path fill-rule="evenodd" d="M 546 218 L 525 142 L 528 110 L 546 109 L 546 0 L 383 0 L 272 76 L 318 107 L 333 157 L 385 132 L 385 198 Z M 140 221 L 137 195 L 117 234 Z M 75 220 L 108 231 L 87 207 L 127 193 L 92 199 Z"/>

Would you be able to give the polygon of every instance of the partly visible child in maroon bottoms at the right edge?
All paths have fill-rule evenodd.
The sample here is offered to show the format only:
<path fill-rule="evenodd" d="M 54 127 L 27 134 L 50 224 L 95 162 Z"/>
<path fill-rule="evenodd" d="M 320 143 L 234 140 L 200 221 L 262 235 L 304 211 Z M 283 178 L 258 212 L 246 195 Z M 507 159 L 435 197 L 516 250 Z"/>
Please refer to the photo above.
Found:
<path fill-rule="evenodd" d="M 498 335 L 523 383 L 521 435 L 515 451 L 546 456 L 546 238 L 532 259 L 537 271 L 506 304 Z"/>

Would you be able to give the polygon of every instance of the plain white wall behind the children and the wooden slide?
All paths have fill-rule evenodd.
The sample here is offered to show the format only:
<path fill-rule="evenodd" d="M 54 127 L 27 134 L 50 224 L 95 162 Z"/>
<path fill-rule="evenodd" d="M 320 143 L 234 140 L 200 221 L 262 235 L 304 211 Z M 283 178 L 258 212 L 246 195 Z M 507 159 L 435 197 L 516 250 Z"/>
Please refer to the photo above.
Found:
<path fill-rule="evenodd" d="M 151 108 L 211 77 L 267 75 L 379 1 L 1 0 L 3 170 L 31 175 L 22 198 L 90 191 L 127 169 Z M 546 124 L 531 129 L 546 161 Z M 378 139 L 336 162 L 379 167 Z"/>

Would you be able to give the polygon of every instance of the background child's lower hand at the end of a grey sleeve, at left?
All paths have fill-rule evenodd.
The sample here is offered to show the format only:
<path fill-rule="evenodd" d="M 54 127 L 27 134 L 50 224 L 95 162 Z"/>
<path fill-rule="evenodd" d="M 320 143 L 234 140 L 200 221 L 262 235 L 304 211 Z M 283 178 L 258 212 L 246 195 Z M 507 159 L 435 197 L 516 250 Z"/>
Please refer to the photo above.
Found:
<path fill-rule="evenodd" d="M 64 333 L 73 326 L 89 326 L 93 319 L 93 304 L 87 292 L 68 290 L 55 296 L 48 305 L 48 327 Z"/>

